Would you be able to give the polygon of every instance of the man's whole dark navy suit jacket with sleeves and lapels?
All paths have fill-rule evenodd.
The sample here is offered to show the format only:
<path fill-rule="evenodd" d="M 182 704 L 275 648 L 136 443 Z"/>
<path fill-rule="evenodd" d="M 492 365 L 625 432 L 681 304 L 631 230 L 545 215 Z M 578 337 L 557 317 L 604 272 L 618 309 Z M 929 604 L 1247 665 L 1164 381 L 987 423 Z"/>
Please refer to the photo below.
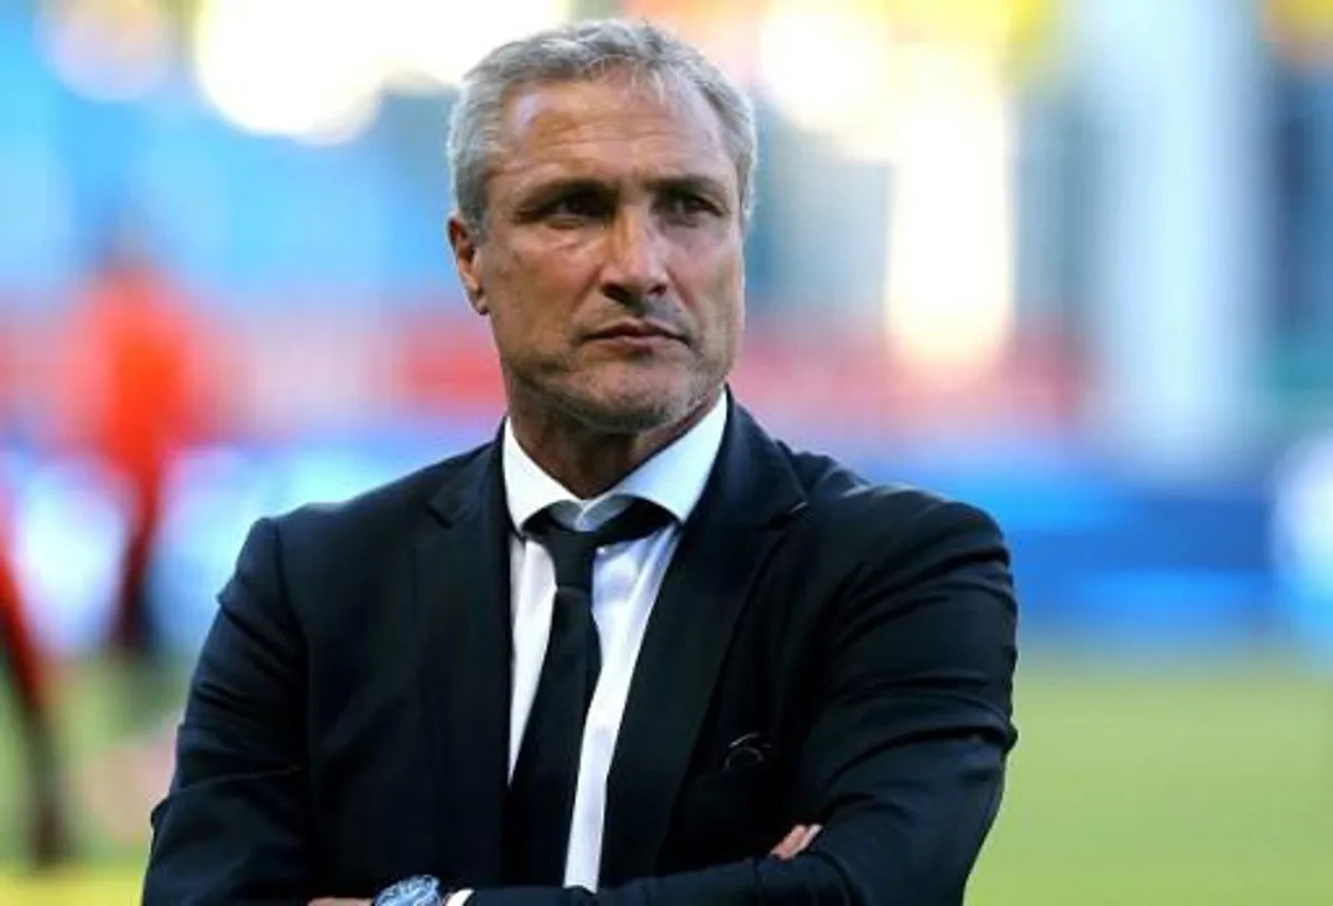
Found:
<path fill-rule="evenodd" d="M 732 405 L 639 654 L 600 890 L 503 875 L 511 620 L 500 445 L 260 521 L 153 811 L 149 906 L 956 906 L 1014 743 L 989 517 L 796 453 Z M 794 823 L 801 855 L 768 850 Z"/>

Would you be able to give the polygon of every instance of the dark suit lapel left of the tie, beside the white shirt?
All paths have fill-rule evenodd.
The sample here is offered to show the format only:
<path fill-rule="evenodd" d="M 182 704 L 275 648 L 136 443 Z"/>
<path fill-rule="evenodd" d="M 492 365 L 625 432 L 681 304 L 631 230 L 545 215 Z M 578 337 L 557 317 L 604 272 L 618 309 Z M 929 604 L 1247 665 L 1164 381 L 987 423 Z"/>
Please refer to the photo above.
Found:
<path fill-rule="evenodd" d="M 509 520 L 500 446 L 464 461 L 431 501 L 413 549 L 436 833 L 451 879 L 501 877 L 509 763 Z M 452 831 L 452 833 L 451 833 Z"/>

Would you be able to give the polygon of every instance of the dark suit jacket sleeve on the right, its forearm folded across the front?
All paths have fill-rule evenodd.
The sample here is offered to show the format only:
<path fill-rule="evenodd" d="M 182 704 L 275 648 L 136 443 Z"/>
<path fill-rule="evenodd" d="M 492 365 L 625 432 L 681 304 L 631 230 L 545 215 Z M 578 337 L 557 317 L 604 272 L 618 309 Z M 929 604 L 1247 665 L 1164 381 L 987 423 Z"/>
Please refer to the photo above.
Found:
<path fill-rule="evenodd" d="M 980 510 L 932 502 L 890 529 L 844 588 L 797 765 L 796 801 L 824 826 L 802 854 L 596 894 L 480 890 L 469 906 L 958 906 L 1016 741 L 1008 552 Z"/>

